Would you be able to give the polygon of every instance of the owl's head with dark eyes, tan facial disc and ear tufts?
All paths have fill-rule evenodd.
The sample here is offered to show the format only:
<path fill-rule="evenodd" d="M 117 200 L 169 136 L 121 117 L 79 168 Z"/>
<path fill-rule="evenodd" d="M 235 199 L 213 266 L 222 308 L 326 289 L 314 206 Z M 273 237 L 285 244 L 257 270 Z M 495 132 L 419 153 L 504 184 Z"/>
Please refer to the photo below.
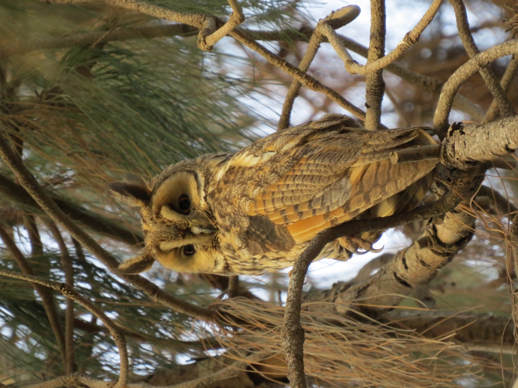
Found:
<path fill-rule="evenodd" d="M 140 207 L 146 243 L 139 256 L 119 266 L 121 272 L 148 271 L 154 260 L 177 272 L 223 270 L 218 228 L 206 202 L 206 176 L 199 163 L 183 161 L 149 182 L 131 176 L 110 185 L 116 200 Z"/>

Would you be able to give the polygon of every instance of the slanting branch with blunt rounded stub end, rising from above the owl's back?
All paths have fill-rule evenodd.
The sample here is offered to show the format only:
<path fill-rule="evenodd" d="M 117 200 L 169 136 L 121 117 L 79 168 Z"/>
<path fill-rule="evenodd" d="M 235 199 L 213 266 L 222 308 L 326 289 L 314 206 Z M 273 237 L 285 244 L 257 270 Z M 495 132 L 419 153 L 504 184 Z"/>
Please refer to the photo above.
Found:
<path fill-rule="evenodd" d="M 337 25 L 333 25 L 334 28 L 343 27 L 346 24 L 351 23 L 354 19 L 356 19 L 359 15 L 360 9 L 358 6 L 350 5 L 347 7 L 341 8 L 339 11 L 331 13 L 329 16 L 325 18 L 325 20 L 332 21 L 336 23 L 337 19 L 340 20 L 340 23 Z M 316 51 L 320 47 L 320 43 L 324 40 L 322 34 L 319 34 L 316 31 L 313 31 L 311 38 L 309 39 L 308 48 L 304 53 L 304 56 L 300 60 L 298 68 L 302 71 L 308 71 L 311 62 L 313 61 Z M 282 105 L 282 113 L 279 118 L 279 124 L 277 126 L 277 130 L 283 130 L 290 126 L 290 115 L 293 109 L 293 102 L 295 98 L 298 96 L 298 92 L 300 91 L 300 82 L 297 79 L 294 79 L 288 89 L 286 94 L 286 98 L 284 99 L 284 103 Z"/>

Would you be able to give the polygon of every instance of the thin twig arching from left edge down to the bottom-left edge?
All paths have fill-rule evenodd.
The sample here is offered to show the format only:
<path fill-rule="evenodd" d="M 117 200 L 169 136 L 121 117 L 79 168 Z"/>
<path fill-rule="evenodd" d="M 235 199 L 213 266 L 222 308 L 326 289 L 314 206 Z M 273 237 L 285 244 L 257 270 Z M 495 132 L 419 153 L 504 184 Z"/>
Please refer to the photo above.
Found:
<path fill-rule="evenodd" d="M 128 362 L 128 354 L 126 348 L 126 338 L 124 336 L 124 331 L 121 327 L 117 326 L 113 321 L 104 314 L 103 311 L 99 310 L 92 302 L 90 302 L 83 295 L 79 294 L 72 287 L 67 285 L 67 283 L 60 283 L 59 281 L 42 279 L 37 276 L 25 275 L 20 272 L 6 271 L 0 270 L 0 275 L 9 276 L 16 279 L 27 280 L 33 283 L 38 283 L 39 285 L 52 288 L 58 292 L 61 292 L 67 298 L 76 301 L 81 304 L 84 308 L 88 309 L 93 315 L 95 315 L 98 319 L 100 319 L 104 325 L 110 331 L 111 336 L 113 337 L 113 341 L 115 345 L 119 349 L 119 357 L 120 357 L 120 376 L 119 381 L 114 386 L 114 388 L 123 388 L 127 384 L 128 373 L 130 363 Z"/>

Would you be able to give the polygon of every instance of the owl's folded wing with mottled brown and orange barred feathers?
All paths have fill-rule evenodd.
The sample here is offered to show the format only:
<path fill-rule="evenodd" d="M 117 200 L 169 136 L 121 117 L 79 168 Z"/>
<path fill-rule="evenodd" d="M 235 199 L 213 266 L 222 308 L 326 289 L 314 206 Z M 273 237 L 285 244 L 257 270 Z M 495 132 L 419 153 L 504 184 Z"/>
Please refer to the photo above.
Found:
<path fill-rule="evenodd" d="M 344 117 L 327 115 L 237 153 L 220 172 L 217 212 L 224 223 L 266 248 L 289 249 L 405 190 L 435 167 L 433 160 L 389 160 L 392 151 L 427 136 L 424 131 L 370 132 Z"/>

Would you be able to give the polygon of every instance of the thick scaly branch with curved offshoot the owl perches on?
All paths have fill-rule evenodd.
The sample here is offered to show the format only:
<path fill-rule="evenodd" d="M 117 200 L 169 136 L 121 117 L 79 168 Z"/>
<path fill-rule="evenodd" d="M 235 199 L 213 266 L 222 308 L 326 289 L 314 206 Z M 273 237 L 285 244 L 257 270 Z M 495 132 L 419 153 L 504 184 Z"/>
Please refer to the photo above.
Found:
<path fill-rule="evenodd" d="M 513 141 L 508 139 L 509 131 L 513 131 L 514 136 L 518 137 L 518 130 L 516 129 L 518 126 L 514 125 L 513 127 L 513 119 L 518 120 L 518 117 L 511 117 L 496 123 L 487 124 L 478 127 L 477 130 L 472 129 L 467 133 L 462 131 L 456 132 L 462 132 L 463 138 L 450 136 L 445 141 L 443 150 L 441 150 L 441 156 L 446 155 L 442 156 L 443 164 L 455 165 L 455 163 L 463 163 L 463 160 L 468 157 L 469 160 L 482 162 L 492 160 L 499 155 L 509 152 L 509 148 L 506 146 L 510 141 Z M 482 158 L 479 155 L 478 147 L 473 147 L 470 142 L 472 141 L 471 138 L 474 132 L 483 133 L 487 139 L 486 131 L 488 130 L 491 130 L 495 141 L 490 148 L 491 152 L 485 150 L 485 157 Z M 466 139 L 464 137 L 466 137 Z M 471 148 L 469 148 L 470 145 Z M 515 148 L 517 147 L 518 146 Z M 471 150 L 471 155 L 468 150 Z M 465 164 L 462 164 L 462 166 L 466 169 Z M 339 296 L 340 302 L 342 303 L 350 303 L 352 300 L 357 300 L 359 297 L 362 297 L 362 299 L 367 300 L 367 303 L 371 305 L 375 311 L 389 309 L 391 306 L 399 303 L 402 298 L 401 295 L 408 294 L 415 286 L 425 284 L 435 277 L 437 268 L 447 264 L 456 255 L 458 250 L 462 249 L 469 242 L 472 236 L 472 228 L 474 228 L 474 218 L 461 210 L 457 210 L 456 212 L 452 211 L 463 198 L 467 197 L 468 193 L 478 188 L 482 183 L 481 178 L 473 174 L 475 174 L 474 171 L 459 173 L 457 179 L 461 183 L 461 186 L 456 188 L 457 192 L 449 191 L 432 204 L 424 205 L 408 213 L 395 214 L 389 217 L 352 220 L 334 228 L 327 229 L 313 238 L 308 247 L 297 258 L 293 266 L 286 297 L 282 345 L 288 365 L 291 386 L 305 387 L 306 384 L 303 359 L 304 331 L 300 325 L 301 295 L 309 264 L 318 257 L 324 246 L 341 236 L 375 230 L 386 230 L 404 223 L 428 219 L 436 215 L 447 213 L 442 225 L 435 226 L 429 222 L 428 228 L 420 240 L 413 243 L 409 248 L 399 251 L 394 260 L 387 263 L 381 271 L 368 280 L 355 287 L 348 285 L 346 287 L 346 289 L 348 289 L 347 294 Z M 473 176 L 475 177 L 472 182 Z M 461 221 L 458 221 L 458 219 L 461 219 Z M 463 227 L 458 230 L 459 224 L 463 226 L 467 225 L 468 227 Z M 449 241 L 440 240 L 440 238 L 437 237 L 437 228 L 453 231 L 453 235 L 450 236 L 451 239 Z M 455 233 L 456 230 L 458 233 Z M 427 255 L 422 256 L 423 249 L 427 249 Z M 409 258 L 409 260 L 407 260 L 407 258 Z M 390 294 L 387 295 L 386 290 L 395 291 L 391 291 Z M 340 290 L 340 293 L 341 292 L 343 292 L 343 289 Z M 335 301 L 337 300 L 338 297 Z M 337 306 L 339 309 L 340 304 L 337 304 Z"/>

